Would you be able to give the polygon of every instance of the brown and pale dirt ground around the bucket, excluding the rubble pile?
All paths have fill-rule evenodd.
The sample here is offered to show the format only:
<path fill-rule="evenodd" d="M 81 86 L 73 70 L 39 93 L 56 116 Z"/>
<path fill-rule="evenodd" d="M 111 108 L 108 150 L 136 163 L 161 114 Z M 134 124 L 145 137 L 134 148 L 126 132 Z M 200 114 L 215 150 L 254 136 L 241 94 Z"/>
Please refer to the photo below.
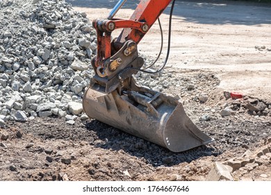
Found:
<path fill-rule="evenodd" d="M 116 1 L 69 2 L 93 20 L 106 17 Z M 128 1 L 117 17 L 129 17 L 135 4 Z M 168 13 L 167 8 L 161 15 L 165 38 Z M 270 181 L 271 7 L 176 1 L 172 22 L 165 71 L 176 85 L 163 93 L 179 95 L 188 116 L 215 141 L 172 153 L 97 120 L 8 122 L 0 129 L 0 180 L 206 180 L 213 162 L 229 164 L 235 158 L 242 165 L 231 173 L 234 180 Z M 139 47 L 154 59 L 160 47 L 158 24 Z M 191 83 L 195 88 L 188 90 Z M 244 98 L 227 100 L 224 91 L 238 91 Z M 201 94 L 208 95 L 204 103 L 195 99 Z M 263 109 L 256 113 L 248 104 Z M 224 107 L 233 113 L 222 117 Z"/>

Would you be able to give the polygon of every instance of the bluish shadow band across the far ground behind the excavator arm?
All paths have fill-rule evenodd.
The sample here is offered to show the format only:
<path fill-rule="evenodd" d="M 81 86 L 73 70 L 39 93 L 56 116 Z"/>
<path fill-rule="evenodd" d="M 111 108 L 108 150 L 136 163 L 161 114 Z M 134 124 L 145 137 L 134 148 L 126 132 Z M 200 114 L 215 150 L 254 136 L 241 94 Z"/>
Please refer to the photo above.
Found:
<path fill-rule="evenodd" d="M 118 0 L 67 0 L 72 6 L 113 8 Z M 135 9 L 139 0 L 126 1 L 123 8 Z M 170 13 L 167 8 L 165 14 Z M 200 24 L 271 24 L 271 6 L 244 1 L 176 1 L 174 15 L 187 22 Z"/>

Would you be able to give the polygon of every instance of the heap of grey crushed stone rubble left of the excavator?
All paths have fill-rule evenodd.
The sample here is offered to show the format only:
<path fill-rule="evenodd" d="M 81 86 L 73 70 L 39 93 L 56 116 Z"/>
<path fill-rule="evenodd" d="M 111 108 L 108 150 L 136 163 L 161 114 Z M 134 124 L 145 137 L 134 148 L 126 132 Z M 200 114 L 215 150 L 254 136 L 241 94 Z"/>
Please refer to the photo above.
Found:
<path fill-rule="evenodd" d="M 58 0 L 0 1 L 0 8 L 0 126 L 53 114 L 72 124 L 83 115 L 97 52 L 85 13 Z"/>

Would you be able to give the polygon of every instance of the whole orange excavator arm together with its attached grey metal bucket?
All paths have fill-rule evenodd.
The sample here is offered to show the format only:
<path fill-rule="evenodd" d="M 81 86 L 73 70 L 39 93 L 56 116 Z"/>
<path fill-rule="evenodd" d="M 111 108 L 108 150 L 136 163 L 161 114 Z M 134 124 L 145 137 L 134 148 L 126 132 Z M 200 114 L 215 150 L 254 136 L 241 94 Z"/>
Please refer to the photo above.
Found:
<path fill-rule="evenodd" d="M 171 0 L 142 0 L 129 20 L 114 18 L 125 1 L 118 1 L 108 18 L 93 21 L 97 56 L 92 59 L 95 76 L 83 97 L 85 113 L 173 152 L 211 142 L 188 118 L 180 100 L 139 86 L 132 76 L 144 64 L 138 43 Z M 123 30 L 112 40 L 115 29 Z"/>

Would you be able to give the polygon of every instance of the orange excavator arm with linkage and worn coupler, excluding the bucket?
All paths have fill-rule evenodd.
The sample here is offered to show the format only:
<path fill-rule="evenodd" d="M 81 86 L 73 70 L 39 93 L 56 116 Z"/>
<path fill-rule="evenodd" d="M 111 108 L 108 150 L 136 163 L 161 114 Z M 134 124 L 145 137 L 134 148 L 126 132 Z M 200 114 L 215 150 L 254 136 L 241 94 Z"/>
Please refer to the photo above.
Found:
<path fill-rule="evenodd" d="M 125 75 L 124 77 L 131 77 L 132 74 L 136 73 L 136 69 L 141 68 L 142 59 L 138 59 L 137 45 L 167 8 L 170 1 L 142 0 L 131 18 L 125 20 L 113 18 L 117 10 L 126 2 L 126 0 L 120 0 L 106 20 L 97 19 L 93 21 L 93 26 L 97 31 L 98 52 L 92 60 L 92 66 L 97 75 L 97 83 L 106 86 L 106 93 L 110 93 L 117 88 L 117 79 L 114 77 L 119 75 L 120 72 Z M 115 29 L 123 29 L 123 31 L 118 38 L 112 40 L 111 33 Z M 135 61 L 133 65 L 130 64 L 131 61 Z M 126 68 L 130 68 L 130 70 L 123 72 Z"/>

